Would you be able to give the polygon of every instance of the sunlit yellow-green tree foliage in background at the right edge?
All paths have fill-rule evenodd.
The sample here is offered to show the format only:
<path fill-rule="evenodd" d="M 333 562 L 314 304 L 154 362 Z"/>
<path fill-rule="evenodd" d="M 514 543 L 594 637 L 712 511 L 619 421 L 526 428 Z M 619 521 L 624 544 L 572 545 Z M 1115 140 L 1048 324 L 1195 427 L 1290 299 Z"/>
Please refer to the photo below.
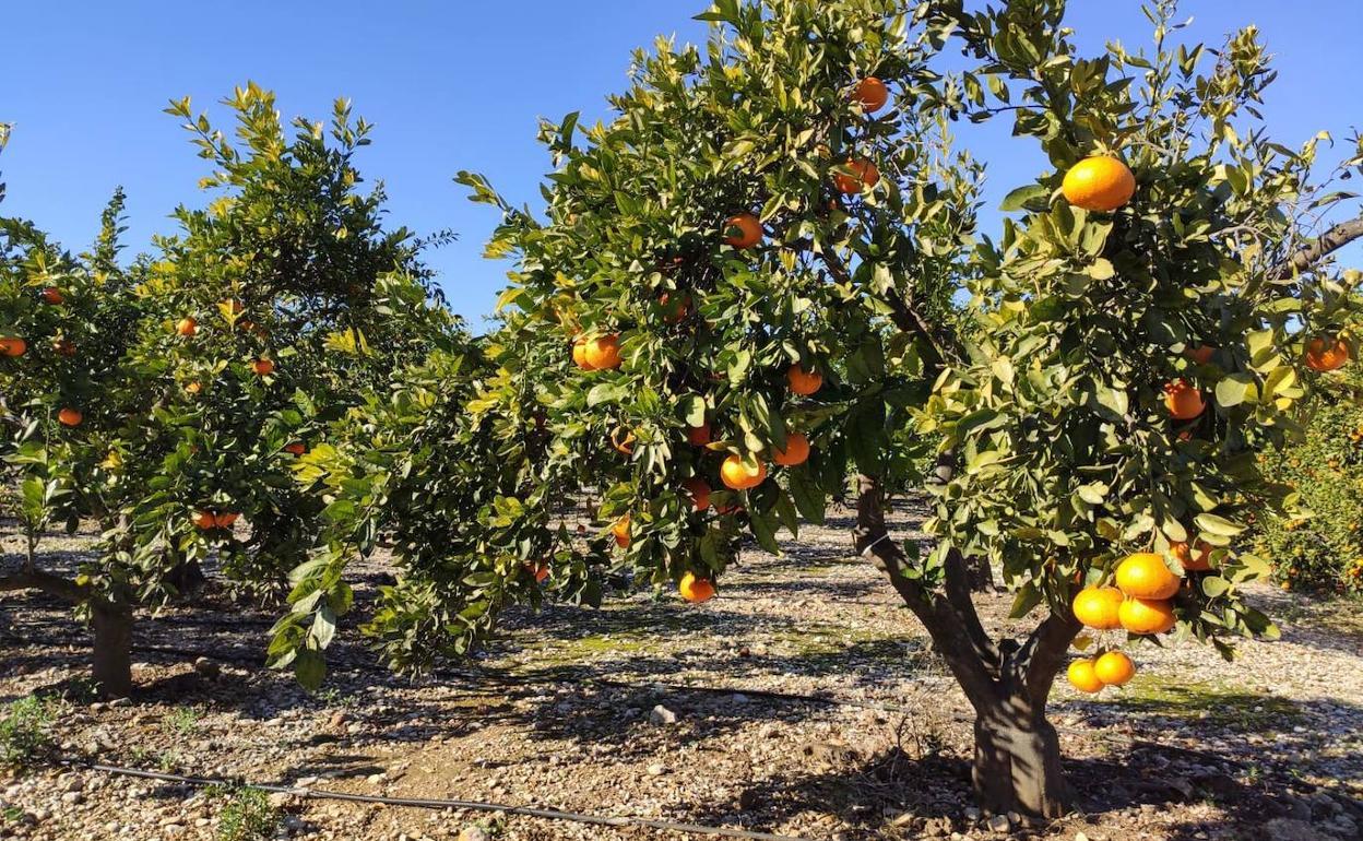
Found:
<path fill-rule="evenodd" d="M 1349 367 L 1313 398 L 1306 439 L 1266 453 L 1264 470 L 1302 510 L 1255 518 L 1253 544 L 1285 587 L 1363 593 L 1363 375 Z"/>

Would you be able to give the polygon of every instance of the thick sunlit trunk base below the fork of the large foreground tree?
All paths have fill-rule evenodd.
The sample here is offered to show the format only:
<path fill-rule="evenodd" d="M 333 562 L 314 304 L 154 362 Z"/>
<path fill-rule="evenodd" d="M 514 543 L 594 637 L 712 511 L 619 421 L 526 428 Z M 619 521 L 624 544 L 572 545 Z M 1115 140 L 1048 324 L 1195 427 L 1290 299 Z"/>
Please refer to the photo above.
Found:
<path fill-rule="evenodd" d="M 996 814 L 1059 818 L 1070 803 L 1055 728 L 1021 697 L 976 712 L 970 778 L 980 807 Z"/>

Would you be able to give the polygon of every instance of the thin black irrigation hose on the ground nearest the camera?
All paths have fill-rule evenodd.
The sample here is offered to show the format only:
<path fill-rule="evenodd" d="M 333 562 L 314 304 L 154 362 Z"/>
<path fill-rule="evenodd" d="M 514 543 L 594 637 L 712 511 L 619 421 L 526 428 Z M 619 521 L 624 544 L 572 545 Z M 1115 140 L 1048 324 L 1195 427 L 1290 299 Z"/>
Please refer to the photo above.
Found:
<path fill-rule="evenodd" d="M 120 767 L 116 765 L 80 763 L 104 774 L 120 777 L 139 777 L 142 780 L 158 780 L 161 782 L 177 782 L 195 788 L 209 786 L 249 786 L 263 792 L 292 795 L 312 800 L 345 800 L 349 803 L 380 803 L 383 806 L 403 806 L 409 808 L 447 810 L 462 808 L 480 812 L 500 812 L 503 815 L 519 815 L 525 818 L 544 818 L 547 821 L 571 821 L 574 823 L 592 823 L 596 826 L 641 826 L 673 833 L 687 833 L 691 836 L 716 836 L 724 838 L 747 838 L 748 841 L 814 841 L 800 836 L 777 836 L 773 833 L 750 831 L 746 829 L 731 829 L 726 826 L 703 826 L 699 823 L 672 823 L 671 821 L 654 821 L 652 818 L 611 818 L 607 815 L 585 815 L 582 812 L 566 812 L 555 808 L 534 808 L 529 806 L 507 806 L 504 803 L 483 803 L 478 800 L 432 800 L 425 797 L 380 797 L 378 795 L 348 795 L 345 792 L 330 792 L 313 788 L 292 788 L 288 785 L 269 785 L 255 782 L 241 782 L 234 780 L 221 780 L 211 777 L 184 777 L 181 774 L 164 774 L 161 771 L 147 771 L 135 767 Z"/>

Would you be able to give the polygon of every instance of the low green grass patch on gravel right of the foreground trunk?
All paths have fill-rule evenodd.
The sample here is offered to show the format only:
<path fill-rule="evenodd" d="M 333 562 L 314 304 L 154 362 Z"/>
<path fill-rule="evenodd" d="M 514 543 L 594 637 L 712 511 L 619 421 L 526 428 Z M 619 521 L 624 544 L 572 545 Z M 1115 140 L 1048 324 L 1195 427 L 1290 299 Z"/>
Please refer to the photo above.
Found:
<path fill-rule="evenodd" d="M 1138 675 L 1115 703 L 1134 713 L 1206 721 L 1240 733 L 1280 732 L 1303 720 L 1285 698 L 1214 683 L 1174 683 L 1160 675 Z"/>

